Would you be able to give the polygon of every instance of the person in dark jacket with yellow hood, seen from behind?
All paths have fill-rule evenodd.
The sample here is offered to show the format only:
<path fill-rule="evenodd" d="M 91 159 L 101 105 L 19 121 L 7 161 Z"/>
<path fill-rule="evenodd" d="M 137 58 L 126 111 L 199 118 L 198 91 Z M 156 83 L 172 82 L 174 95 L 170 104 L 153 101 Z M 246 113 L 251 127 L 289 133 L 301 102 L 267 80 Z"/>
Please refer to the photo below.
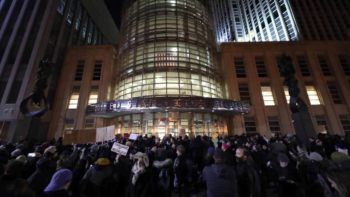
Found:
<path fill-rule="evenodd" d="M 100 191 L 105 191 L 105 194 L 108 194 L 112 191 L 113 169 L 108 156 L 107 150 L 102 151 L 95 165 L 86 171 L 80 181 L 80 192 L 84 196 L 96 196 L 99 195 Z"/>

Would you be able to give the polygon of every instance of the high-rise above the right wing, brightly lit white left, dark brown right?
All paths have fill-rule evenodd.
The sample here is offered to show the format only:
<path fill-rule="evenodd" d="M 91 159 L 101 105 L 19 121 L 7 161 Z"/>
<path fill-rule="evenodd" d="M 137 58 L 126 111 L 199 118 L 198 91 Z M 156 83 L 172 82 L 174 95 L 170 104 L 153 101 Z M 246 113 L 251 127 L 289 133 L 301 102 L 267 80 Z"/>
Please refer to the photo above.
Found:
<path fill-rule="evenodd" d="M 217 42 L 349 39 L 349 1 L 211 2 Z"/>

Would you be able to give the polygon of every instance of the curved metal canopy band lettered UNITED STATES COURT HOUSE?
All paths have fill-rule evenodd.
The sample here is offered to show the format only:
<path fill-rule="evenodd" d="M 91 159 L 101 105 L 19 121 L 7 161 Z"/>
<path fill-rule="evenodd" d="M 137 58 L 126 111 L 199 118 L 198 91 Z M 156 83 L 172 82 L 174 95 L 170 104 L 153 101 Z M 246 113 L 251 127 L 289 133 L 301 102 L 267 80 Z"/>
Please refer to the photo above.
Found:
<path fill-rule="evenodd" d="M 249 104 L 229 99 L 205 97 L 147 97 L 105 101 L 86 106 L 87 116 L 114 117 L 122 114 L 160 111 L 210 112 L 234 115 L 250 112 Z"/>

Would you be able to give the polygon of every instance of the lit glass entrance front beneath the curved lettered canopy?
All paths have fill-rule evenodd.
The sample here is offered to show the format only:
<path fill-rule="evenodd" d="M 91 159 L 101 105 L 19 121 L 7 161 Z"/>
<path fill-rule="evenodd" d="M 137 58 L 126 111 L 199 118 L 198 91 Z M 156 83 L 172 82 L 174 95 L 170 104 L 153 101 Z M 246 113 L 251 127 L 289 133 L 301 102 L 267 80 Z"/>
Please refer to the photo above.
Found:
<path fill-rule="evenodd" d="M 117 116 L 112 119 L 116 125 L 116 134 L 148 134 L 161 139 L 169 134 L 179 136 L 180 129 L 186 129 L 186 135 L 211 136 L 212 133 L 225 134 L 227 126 L 224 116 L 205 113 L 142 113 Z"/>

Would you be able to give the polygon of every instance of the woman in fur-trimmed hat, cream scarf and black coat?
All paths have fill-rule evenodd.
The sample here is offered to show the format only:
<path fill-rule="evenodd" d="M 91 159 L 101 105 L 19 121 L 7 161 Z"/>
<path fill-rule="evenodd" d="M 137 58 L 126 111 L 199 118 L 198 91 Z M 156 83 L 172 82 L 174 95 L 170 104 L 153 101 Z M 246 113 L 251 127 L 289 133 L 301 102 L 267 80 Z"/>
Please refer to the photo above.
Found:
<path fill-rule="evenodd" d="M 125 197 L 149 197 L 152 195 L 152 171 L 148 168 L 149 160 L 146 154 L 138 152 L 138 159 L 131 170 Z"/>

